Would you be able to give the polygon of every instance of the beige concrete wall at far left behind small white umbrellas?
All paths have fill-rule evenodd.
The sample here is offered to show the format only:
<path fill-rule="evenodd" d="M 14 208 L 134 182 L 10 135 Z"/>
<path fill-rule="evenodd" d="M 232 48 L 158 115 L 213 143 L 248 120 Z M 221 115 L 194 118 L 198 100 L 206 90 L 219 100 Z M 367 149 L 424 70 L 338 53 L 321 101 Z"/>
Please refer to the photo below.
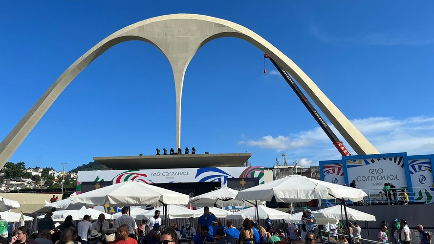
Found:
<path fill-rule="evenodd" d="M 50 202 L 50 198 L 53 194 L 45 193 L 1 193 L 1 196 L 7 199 L 18 201 L 21 205 L 18 209 L 12 209 L 12 212 L 19 213 L 38 213 L 48 210 L 44 207 L 45 201 Z M 59 200 L 62 199 L 62 195 L 56 194 Z"/>

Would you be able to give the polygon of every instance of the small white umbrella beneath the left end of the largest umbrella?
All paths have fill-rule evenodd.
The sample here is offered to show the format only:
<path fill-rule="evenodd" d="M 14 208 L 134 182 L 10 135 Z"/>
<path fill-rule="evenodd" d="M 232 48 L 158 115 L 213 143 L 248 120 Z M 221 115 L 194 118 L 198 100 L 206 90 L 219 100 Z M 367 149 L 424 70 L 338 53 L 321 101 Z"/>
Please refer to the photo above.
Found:
<path fill-rule="evenodd" d="M 287 220 L 291 217 L 290 214 L 276 210 L 274 208 L 269 208 L 266 206 L 258 206 L 257 208 L 259 213 L 259 218 L 257 216 L 257 212 L 255 211 L 255 207 L 249 207 L 243 209 L 241 211 L 235 212 L 231 215 L 228 215 L 226 219 L 228 220 L 244 220 L 244 219 L 258 219 L 264 220 L 269 218 L 270 220 Z"/>

